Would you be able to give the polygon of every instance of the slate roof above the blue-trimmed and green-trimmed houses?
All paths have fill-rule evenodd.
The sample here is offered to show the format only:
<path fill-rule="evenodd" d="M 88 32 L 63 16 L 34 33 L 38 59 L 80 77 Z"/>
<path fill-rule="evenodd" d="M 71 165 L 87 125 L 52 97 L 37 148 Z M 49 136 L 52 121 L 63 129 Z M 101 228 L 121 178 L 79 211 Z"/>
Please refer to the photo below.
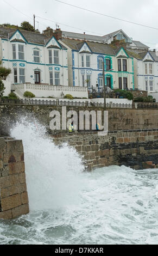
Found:
<path fill-rule="evenodd" d="M 80 40 L 75 40 L 75 39 L 60 39 L 61 42 L 63 42 L 65 45 L 67 45 L 69 48 L 72 50 L 80 50 L 81 48 L 81 42 Z M 85 43 L 83 40 L 82 45 Z M 80 48 L 78 47 L 78 44 Z M 109 55 L 115 55 L 115 51 L 113 48 L 108 45 L 108 44 L 103 44 L 99 42 L 91 42 L 91 41 L 86 41 L 86 44 L 90 47 L 92 52 L 100 53 L 100 54 L 109 54 Z M 77 48 L 78 47 L 78 48 Z"/>

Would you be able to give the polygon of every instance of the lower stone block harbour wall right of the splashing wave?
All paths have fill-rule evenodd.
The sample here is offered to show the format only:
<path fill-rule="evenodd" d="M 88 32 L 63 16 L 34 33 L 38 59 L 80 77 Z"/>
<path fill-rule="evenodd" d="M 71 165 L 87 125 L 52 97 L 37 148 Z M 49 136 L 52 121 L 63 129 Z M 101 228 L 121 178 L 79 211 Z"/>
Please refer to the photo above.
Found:
<path fill-rule="evenodd" d="M 56 145 L 68 143 L 83 156 L 87 170 L 118 165 L 133 169 L 158 168 L 158 129 L 53 135 Z M 151 162 L 147 164 L 147 162 Z"/>

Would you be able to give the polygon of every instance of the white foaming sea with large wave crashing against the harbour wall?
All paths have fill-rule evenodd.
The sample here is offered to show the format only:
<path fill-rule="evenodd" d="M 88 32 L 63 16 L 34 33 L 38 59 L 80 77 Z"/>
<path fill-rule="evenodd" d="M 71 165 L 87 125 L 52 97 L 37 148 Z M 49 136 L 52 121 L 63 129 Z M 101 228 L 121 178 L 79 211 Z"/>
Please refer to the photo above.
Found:
<path fill-rule="evenodd" d="M 23 139 L 30 214 L 0 220 L 0 244 L 158 244 L 158 169 L 85 173 L 42 126 L 23 120 L 12 136 Z"/>

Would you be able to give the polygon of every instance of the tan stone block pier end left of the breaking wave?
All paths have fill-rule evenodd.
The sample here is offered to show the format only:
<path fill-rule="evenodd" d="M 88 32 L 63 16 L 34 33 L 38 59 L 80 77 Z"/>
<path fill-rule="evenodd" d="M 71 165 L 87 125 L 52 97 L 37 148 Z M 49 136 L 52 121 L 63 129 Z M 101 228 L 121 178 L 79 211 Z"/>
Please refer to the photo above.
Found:
<path fill-rule="evenodd" d="M 29 213 L 22 141 L 0 137 L 0 219 Z"/>

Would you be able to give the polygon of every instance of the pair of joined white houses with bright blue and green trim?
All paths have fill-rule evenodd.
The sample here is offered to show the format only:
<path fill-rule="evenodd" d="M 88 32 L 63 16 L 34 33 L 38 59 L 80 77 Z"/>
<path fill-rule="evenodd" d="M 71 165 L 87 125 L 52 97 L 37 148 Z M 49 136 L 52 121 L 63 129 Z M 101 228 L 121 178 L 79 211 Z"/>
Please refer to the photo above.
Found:
<path fill-rule="evenodd" d="M 68 79 L 71 86 L 103 90 L 103 61 L 105 84 L 111 89 L 134 89 L 134 57 L 123 47 L 113 48 L 101 42 L 62 38 L 68 49 Z"/>

